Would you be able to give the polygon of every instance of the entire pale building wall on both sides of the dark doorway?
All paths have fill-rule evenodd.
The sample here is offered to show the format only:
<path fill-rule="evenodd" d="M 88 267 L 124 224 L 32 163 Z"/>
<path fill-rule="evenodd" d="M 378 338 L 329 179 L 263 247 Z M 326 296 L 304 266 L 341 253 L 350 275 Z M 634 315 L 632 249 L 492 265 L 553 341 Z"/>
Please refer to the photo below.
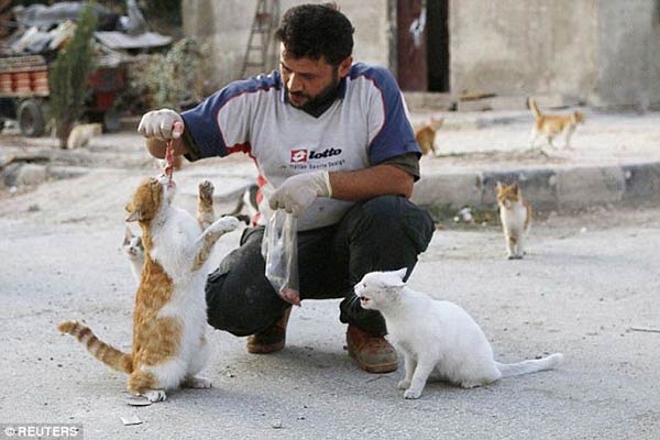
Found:
<path fill-rule="evenodd" d="M 282 0 L 282 12 L 308 1 L 320 2 Z M 396 1 L 337 0 L 356 28 L 356 61 L 392 67 L 395 30 L 387 10 Z M 454 94 L 563 95 L 597 107 L 660 106 L 658 0 L 449 1 Z M 185 34 L 211 44 L 212 84 L 239 78 L 255 6 L 256 0 L 183 1 Z"/>

